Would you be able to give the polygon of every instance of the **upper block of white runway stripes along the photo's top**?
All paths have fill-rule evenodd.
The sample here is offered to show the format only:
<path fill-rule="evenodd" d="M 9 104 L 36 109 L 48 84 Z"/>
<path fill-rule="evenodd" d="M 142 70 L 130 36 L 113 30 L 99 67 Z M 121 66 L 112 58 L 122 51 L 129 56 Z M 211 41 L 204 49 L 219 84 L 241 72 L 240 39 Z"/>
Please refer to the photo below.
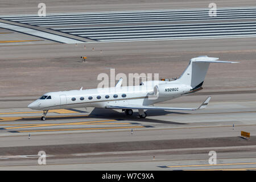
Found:
<path fill-rule="evenodd" d="M 217 16 L 209 16 L 209 9 L 113 11 L 99 13 L 49 14 L 47 16 L 2 16 L 2 19 L 34 26 L 77 26 L 87 24 L 159 23 L 201 20 L 255 19 L 256 7 L 218 8 Z"/>

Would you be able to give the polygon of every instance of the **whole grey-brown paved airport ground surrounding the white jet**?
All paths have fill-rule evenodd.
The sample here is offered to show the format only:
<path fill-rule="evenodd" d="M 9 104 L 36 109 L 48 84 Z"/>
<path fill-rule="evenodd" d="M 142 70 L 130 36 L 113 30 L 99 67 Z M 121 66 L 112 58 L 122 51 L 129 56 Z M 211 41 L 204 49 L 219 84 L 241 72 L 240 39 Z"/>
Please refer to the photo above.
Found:
<path fill-rule="evenodd" d="M 123 1 L 109 1 L 104 5 L 102 1 L 86 1 L 90 5 L 81 6 L 84 1 L 72 5 L 46 1 L 48 12 L 59 13 L 60 17 L 48 16 L 42 22 L 22 15 L 36 14 L 37 3 L 15 2 L 1 6 L 5 9 L 0 15 L 0 170 L 256 169 L 255 10 L 248 10 L 255 9 L 254 1 L 216 1 L 217 7 L 229 7 L 236 14 L 237 18 L 232 20 L 223 11 L 224 19 L 190 22 L 186 15 L 184 22 L 105 22 L 82 27 L 71 26 L 66 22 L 71 20 L 65 17 L 73 16 L 68 14 L 74 12 L 75 16 L 88 16 L 89 12 L 98 16 L 102 11 L 114 11 L 108 13 L 109 18 L 114 18 L 113 13 L 123 14 L 122 11 L 146 17 L 145 10 L 155 15 L 163 10 L 172 14 L 174 9 L 186 14 L 186 9 L 205 9 L 208 3 L 131 1 L 127 5 Z M 238 12 L 236 7 L 247 9 Z M 238 16 L 240 13 L 242 17 Z M 120 18 L 132 21 L 134 17 Z M 81 23 L 80 19 L 75 22 Z M 63 22 L 66 24 L 57 25 Z M 203 31 L 212 31 L 211 37 L 177 40 L 181 36 L 175 35 L 171 40 L 164 33 L 183 26 L 203 36 L 205 32 L 201 34 L 202 30 L 195 28 L 200 24 Z M 233 37 L 214 37 L 216 26 L 222 26 L 221 31 Z M 124 27 L 127 35 L 135 29 L 133 39 L 139 40 L 127 41 L 129 35 L 125 41 L 113 41 L 114 36 L 123 36 Z M 164 40 L 141 37 L 141 32 L 154 33 L 152 27 L 158 29 L 158 36 L 164 36 Z M 85 35 L 86 31 L 89 34 Z M 182 34 L 187 36 L 191 32 Z M 147 111 L 147 118 L 141 119 L 136 111 L 127 117 L 120 110 L 88 107 L 51 110 L 42 122 L 41 111 L 27 108 L 49 91 L 96 88 L 100 82 L 98 74 L 109 74 L 110 68 L 115 68 L 115 74 L 159 73 L 162 78 L 179 77 L 189 59 L 200 55 L 240 63 L 211 64 L 203 90 L 157 105 L 197 107 L 212 96 L 204 110 Z M 87 57 L 85 63 L 81 56 Z M 250 139 L 241 138 L 241 131 L 249 132 Z M 39 151 L 46 152 L 46 165 L 38 164 Z M 209 151 L 217 152 L 216 165 L 208 163 Z"/>

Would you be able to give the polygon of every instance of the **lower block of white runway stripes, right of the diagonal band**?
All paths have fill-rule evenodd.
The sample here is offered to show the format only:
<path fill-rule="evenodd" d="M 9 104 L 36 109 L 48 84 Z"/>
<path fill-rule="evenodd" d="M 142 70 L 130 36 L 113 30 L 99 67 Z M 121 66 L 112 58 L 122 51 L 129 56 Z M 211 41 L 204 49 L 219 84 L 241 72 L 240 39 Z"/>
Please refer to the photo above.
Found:
<path fill-rule="evenodd" d="M 255 22 L 52 28 L 96 41 L 179 40 L 254 37 Z"/>

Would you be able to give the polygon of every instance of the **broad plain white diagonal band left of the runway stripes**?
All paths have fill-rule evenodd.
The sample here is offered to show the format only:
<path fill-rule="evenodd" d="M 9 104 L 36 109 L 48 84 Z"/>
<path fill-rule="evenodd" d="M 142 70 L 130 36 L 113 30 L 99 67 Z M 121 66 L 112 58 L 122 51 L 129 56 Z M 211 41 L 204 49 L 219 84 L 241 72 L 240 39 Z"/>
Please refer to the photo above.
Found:
<path fill-rule="evenodd" d="M 24 34 L 39 36 L 40 38 L 49 39 L 49 40 L 53 40 L 53 41 L 57 41 L 57 42 L 61 42 L 61 43 L 67 43 L 67 44 L 84 43 L 79 40 L 65 38 L 64 36 L 54 35 L 54 34 L 50 34 L 48 32 L 43 32 L 43 31 L 32 29 L 32 28 L 15 26 L 13 24 L 7 24 L 7 23 L 0 22 L 0 27 L 7 28 L 9 30 L 22 32 Z"/>

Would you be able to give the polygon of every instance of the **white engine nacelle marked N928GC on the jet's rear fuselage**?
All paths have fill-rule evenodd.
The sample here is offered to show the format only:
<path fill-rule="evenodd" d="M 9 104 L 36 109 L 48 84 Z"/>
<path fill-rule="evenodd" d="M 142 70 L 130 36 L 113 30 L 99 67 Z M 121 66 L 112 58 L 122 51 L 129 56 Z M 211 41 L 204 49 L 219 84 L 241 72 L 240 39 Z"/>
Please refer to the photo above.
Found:
<path fill-rule="evenodd" d="M 160 84 L 154 86 L 154 95 L 158 97 L 175 97 L 189 92 L 190 86 L 181 84 Z"/>

